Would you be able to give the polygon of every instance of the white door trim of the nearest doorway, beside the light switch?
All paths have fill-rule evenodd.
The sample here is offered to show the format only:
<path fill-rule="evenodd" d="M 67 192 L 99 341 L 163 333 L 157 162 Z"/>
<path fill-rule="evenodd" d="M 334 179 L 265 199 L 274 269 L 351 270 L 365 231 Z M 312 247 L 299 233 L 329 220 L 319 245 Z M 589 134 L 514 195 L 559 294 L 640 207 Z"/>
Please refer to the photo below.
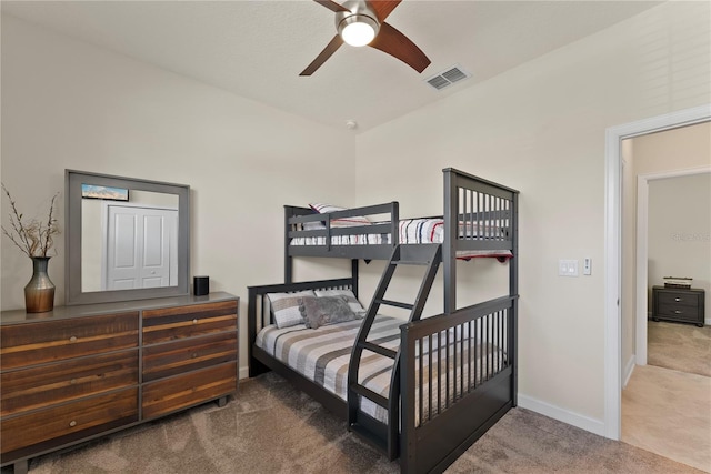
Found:
<path fill-rule="evenodd" d="M 711 104 L 653 117 L 605 130 L 604 185 L 604 435 L 622 432 L 622 140 L 711 120 Z"/>

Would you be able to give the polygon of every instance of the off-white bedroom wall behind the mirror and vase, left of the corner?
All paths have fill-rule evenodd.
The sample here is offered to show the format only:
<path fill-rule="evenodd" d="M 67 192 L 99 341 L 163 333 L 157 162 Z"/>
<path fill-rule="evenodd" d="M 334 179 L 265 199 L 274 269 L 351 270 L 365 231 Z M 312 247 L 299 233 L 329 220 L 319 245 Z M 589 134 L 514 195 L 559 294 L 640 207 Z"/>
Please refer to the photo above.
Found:
<path fill-rule="evenodd" d="M 64 169 L 189 184 L 191 273 L 242 297 L 241 327 L 246 286 L 283 281 L 283 204 L 352 204 L 352 134 L 8 16 L 1 92 L 1 179 L 27 215 L 44 215 L 63 194 Z M 3 224 L 8 212 L 3 199 Z M 63 200 L 59 219 L 63 231 Z M 8 239 L 1 245 L 1 307 L 23 307 L 31 264 Z M 64 234 L 56 248 L 59 305 Z"/>

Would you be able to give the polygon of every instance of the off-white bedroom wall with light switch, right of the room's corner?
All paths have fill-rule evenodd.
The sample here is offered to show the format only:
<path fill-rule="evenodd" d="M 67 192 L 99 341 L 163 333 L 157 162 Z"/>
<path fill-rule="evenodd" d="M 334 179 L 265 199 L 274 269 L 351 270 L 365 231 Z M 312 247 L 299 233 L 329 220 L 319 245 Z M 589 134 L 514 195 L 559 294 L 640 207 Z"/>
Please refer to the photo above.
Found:
<path fill-rule="evenodd" d="M 358 135 L 359 203 L 437 213 L 448 165 L 521 191 L 523 406 L 602 433 L 604 132 L 711 102 L 709 13 L 662 4 Z M 558 276 L 587 256 L 591 276 Z"/>

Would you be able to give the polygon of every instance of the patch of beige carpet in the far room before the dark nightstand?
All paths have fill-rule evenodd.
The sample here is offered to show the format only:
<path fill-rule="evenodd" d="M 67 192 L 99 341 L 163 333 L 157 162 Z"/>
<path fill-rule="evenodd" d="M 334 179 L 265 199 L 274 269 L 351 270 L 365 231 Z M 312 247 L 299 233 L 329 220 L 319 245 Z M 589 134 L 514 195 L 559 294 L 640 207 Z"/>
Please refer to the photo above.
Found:
<path fill-rule="evenodd" d="M 647 331 L 649 365 L 711 376 L 711 326 L 649 321 Z"/>

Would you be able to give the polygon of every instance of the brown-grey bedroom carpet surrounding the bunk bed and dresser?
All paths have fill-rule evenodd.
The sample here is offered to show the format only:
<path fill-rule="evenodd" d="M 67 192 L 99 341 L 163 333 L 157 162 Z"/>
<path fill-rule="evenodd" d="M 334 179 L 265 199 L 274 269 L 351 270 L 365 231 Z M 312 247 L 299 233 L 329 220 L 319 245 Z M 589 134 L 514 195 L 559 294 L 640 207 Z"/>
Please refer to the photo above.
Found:
<path fill-rule="evenodd" d="M 274 374 L 242 382 L 222 409 L 203 405 L 30 463 L 32 474 L 397 472 L 397 463 Z M 522 409 L 509 412 L 448 472 L 699 473 Z"/>

